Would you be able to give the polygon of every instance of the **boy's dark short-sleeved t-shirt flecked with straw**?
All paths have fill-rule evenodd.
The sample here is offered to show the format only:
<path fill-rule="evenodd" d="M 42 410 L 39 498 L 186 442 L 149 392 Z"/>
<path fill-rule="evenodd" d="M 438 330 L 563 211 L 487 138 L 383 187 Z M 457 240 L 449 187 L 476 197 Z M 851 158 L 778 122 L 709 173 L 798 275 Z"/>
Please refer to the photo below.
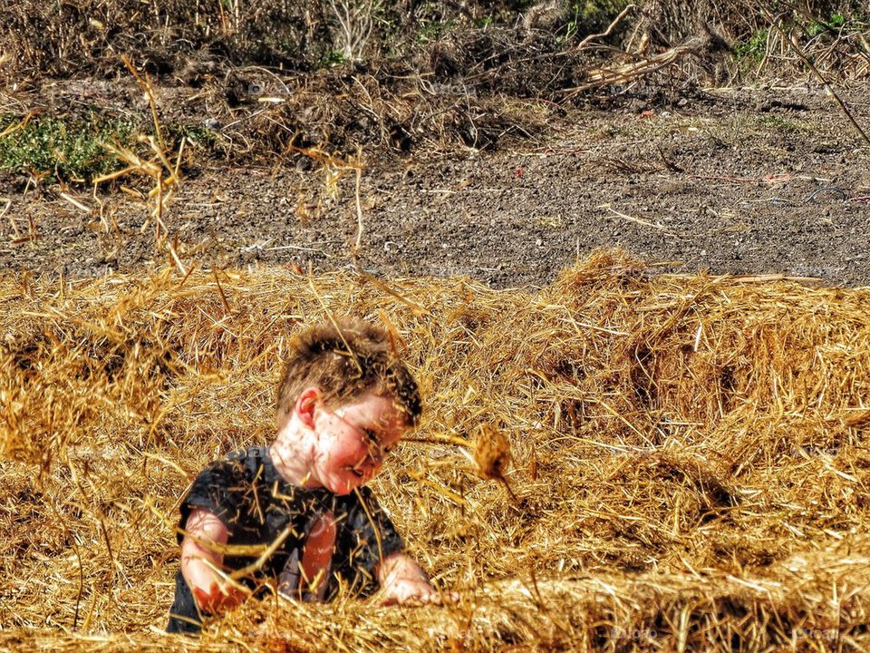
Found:
<path fill-rule="evenodd" d="M 332 598 L 340 582 L 355 594 L 372 593 L 377 589 L 378 563 L 404 546 L 371 490 L 362 487 L 358 493 L 336 496 L 320 488 L 297 488 L 278 475 L 266 447 L 232 453 L 200 473 L 181 503 L 181 528 L 195 508 L 205 508 L 224 522 L 230 546 L 269 545 L 285 537 L 266 563 L 242 580 L 255 594 L 272 581 L 272 587 L 282 594 L 312 598 L 304 593 L 304 581 L 299 580 L 299 560 L 308 530 L 315 518 L 326 512 L 332 512 L 337 521 L 335 550 L 324 593 L 316 598 Z M 179 533 L 178 537 L 180 543 L 184 536 Z M 247 567 L 261 555 L 230 553 L 224 557 L 227 570 Z M 197 606 L 179 570 L 167 630 L 197 632 L 200 623 Z"/>

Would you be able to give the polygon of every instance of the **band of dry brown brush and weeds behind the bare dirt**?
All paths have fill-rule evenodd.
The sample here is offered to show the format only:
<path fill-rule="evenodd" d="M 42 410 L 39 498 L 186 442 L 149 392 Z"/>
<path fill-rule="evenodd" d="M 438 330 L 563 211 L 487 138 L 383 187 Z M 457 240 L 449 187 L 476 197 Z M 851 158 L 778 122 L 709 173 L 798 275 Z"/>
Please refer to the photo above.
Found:
<path fill-rule="evenodd" d="M 595 93 L 613 102 L 803 78 L 807 57 L 831 83 L 870 73 L 861 7 L 827 0 L 779 13 L 706 0 L 89 0 L 57 11 L 13 0 L 8 15 L 0 112 L 96 111 L 144 127 L 148 108 L 117 81 L 126 55 L 153 77 L 161 121 L 198 129 L 234 161 L 312 146 L 343 156 L 493 148 Z"/>

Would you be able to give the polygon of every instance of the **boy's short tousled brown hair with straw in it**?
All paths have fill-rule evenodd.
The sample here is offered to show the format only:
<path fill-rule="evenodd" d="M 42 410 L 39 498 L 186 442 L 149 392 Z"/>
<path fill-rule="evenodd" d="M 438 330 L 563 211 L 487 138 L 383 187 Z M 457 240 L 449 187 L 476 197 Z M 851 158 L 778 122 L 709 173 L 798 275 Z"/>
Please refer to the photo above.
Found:
<path fill-rule="evenodd" d="M 312 386 L 320 389 L 327 405 L 370 391 L 390 396 L 409 426 L 422 413 L 417 382 L 396 356 L 390 336 L 361 319 L 324 322 L 295 336 L 278 384 L 279 427 L 296 397 Z"/>

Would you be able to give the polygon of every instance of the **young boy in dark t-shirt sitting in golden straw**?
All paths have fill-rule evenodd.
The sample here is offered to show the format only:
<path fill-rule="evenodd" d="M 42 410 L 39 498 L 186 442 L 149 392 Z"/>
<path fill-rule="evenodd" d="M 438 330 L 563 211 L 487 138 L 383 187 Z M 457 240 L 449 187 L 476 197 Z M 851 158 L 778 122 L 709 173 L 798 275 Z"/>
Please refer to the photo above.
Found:
<path fill-rule="evenodd" d="M 272 584 L 326 600 L 339 585 L 384 602 L 438 600 L 365 487 L 420 417 L 420 395 L 381 329 L 358 320 L 295 338 L 278 386 L 277 435 L 212 463 L 181 503 L 181 565 L 168 632 Z"/>

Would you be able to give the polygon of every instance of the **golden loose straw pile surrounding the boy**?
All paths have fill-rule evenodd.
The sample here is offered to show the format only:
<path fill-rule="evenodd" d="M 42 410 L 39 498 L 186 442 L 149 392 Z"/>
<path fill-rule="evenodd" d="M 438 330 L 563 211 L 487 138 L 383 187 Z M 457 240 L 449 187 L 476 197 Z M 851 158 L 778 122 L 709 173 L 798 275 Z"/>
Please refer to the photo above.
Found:
<path fill-rule="evenodd" d="M 0 647 L 870 646 L 870 291 L 650 277 L 618 251 L 536 294 L 391 288 L 275 268 L 0 282 Z M 459 604 L 264 601 L 199 641 L 150 632 L 179 497 L 267 441 L 287 337 L 327 311 L 391 324 L 420 377 L 429 442 L 375 489 Z M 469 463 L 493 432 L 514 498 Z"/>

